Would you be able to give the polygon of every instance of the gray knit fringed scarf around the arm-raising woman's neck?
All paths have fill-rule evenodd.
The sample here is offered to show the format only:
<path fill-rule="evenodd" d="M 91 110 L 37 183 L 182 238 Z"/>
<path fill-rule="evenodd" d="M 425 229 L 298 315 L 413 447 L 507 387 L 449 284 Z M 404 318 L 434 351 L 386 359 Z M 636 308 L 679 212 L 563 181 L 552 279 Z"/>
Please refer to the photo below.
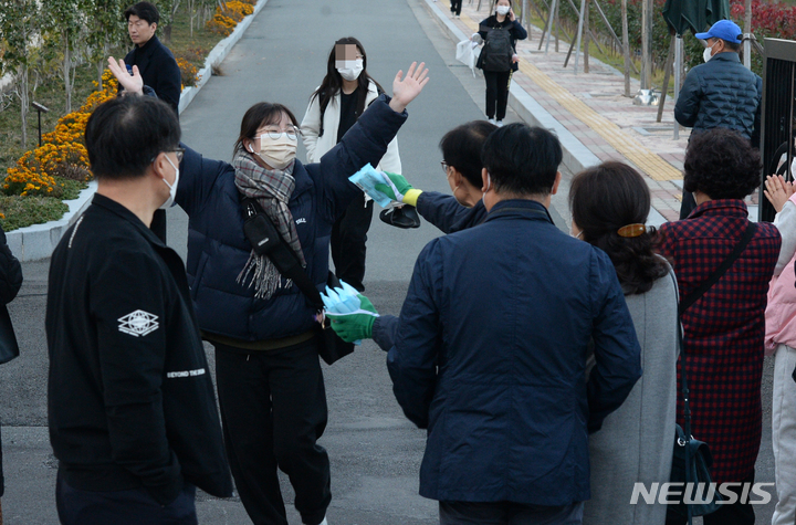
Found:
<path fill-rule="evenodd" d="M 271 222 L 275 224 L 282 239 L 298 255 L 302 266 L 306 266 L 293 214 L 287 208 L 287 202 L 295 189 L 295 179 L 293 178 L 295 162 L 284 170 L 266 169 L 256 164 L 249 154 L 238 151 L 232 159 L 232 167 L 235 169 L 238 191 L 258 201 Z M 271 260 L 265 255 L 258 255 L 253 250 L 245 266 L 238 275 L 238 282 L 245 282 L 249 274 L 252 275 L 249 287 L 254 286 L 254 296 L 258 298 L 269 300 L 276 290 L 292 285 L 290 280 L 282 283 L 282 276 Z"/>

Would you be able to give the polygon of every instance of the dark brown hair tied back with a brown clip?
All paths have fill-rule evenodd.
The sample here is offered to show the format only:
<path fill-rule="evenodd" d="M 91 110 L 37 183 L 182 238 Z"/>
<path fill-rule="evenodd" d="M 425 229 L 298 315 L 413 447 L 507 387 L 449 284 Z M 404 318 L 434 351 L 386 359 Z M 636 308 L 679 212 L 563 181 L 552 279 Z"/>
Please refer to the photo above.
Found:
<path fill-rule="evenodd" d="M 643 224 L 650 210 L 650 191 L 630 166 L 608 161 L 580 171 L 569 188 L 573 222 L 583 240 L 608 254 L 628 295 L 649 292 L 669 267 L 654 253 L 658 235 L 650 228 L 639 237 L 620 237 L 628 224 Z"/>

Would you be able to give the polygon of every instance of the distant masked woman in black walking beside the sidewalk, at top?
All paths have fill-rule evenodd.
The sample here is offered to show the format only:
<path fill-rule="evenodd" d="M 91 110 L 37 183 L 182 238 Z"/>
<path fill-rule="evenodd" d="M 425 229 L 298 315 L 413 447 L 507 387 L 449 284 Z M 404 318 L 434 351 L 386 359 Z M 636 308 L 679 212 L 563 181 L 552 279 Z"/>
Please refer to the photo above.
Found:
<path fill-rule="evenodd" d="M 490 45 L 490 34 L 496 31 L 507 31 L 511 38 L 511 56 L 506 57 L 506 65 L 503 67 L 491 66 L 489 61 L 484 61 L 486 50 Z M 511 75 L 517 71 L 520 57 L 516 54 L 516 41 L 527 39 L 527 31 L 523 29 L 520 21 L 514 15 L 509 0 L 498 0 L 495 3 L 495 13 L 488 19 L 481 21 L 479 25 L 479 35 L 485 42 L 481 51 L 478 67 L 483 70 L 484 80 L 486 81 L 486 118 L 498 126 L 503 125 L 505 118 L 506 105 L 509 104 L 509 86 L 511 85 Z M 473 35 L 475 36 L 475 35 Z"/>

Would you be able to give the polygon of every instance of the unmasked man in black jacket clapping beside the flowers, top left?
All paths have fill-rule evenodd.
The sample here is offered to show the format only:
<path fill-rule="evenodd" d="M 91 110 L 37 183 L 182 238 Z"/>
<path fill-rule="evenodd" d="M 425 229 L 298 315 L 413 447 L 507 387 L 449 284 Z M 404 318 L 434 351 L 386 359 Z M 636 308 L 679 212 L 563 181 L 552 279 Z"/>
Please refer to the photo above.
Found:
<path fill-rule="evenodd" d="M 148 85 L 158 98 L 171 106 L 179 115 L 179 96 L 182 81 L 177 61 L 155 32 L 160 13 L 149 2 L 138 2 L 125 10 L 127 32 L 135 48 L 125 56 L 128 67 L 138 66 L 144 84 Z"/>

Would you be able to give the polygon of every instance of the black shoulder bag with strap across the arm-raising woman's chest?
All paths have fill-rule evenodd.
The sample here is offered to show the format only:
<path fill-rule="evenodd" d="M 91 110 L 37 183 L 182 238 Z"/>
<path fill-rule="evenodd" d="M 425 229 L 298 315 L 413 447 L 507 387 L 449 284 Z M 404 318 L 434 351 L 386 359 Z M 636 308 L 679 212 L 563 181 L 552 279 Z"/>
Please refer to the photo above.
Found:
<path fill-rule="evenodd" d="M 280 235 L 271 222 L 271 219 L 263 212 L 254 199 L 242 197 L 241 206 L 243 207 L 243 217 L 245 218 L 243 232 L 254 252 L 258 255 L 268 256 L 282 276 L 293 280 L 295 285 L 298 286 L 298 290 L 301 290 L 310 304 L 318 313 L 318 318 L 321 319 L 321 323 L 317 325 L 321 336 L 318 354 L 321 358 L 326 361 L 327 365 L 332 365 L 336 360 L 353 353 L 354 344 L 341 339 L 323 316 L 324 304 L 321 298 L 321 293 L 302 267 L 298 256 L 284 239 L 282 239 L 282 235 Z M 327 284 L 329 286 L 339 286 L 339 281 L 337 281 L 337 277 L 332 272 L 328 274 Z"/>

